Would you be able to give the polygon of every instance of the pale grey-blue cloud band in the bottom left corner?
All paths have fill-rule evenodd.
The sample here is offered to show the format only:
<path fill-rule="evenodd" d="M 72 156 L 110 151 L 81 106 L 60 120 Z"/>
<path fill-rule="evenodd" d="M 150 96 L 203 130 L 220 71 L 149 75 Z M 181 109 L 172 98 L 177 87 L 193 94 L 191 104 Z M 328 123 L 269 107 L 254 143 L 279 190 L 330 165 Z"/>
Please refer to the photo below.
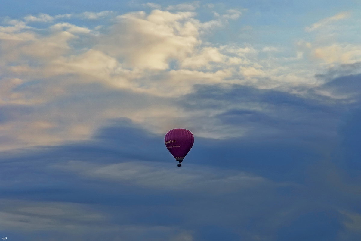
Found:
<path fill-rule="evenodd" d="M 39 240 L 39 235 L 46 235 L 51 240 L 96 240 L 100 237 L 108 240 L 142 240 L 144 237 L 151 241 L 193 240 L 192 232 L 172 225 L 118 224 L 119 220 L 111 222 L 109 217 L 113 215 L 100 212 L 97 210 L 100 207 L 95 205 L 17 199 L 1 199 L 1 202 L 0 220 L 4 224 L 1 231 L 8 238 L 26 237 L 35 241 Z M 122 215 L 128 218 L 132 216 L 126 211 Z"/>

